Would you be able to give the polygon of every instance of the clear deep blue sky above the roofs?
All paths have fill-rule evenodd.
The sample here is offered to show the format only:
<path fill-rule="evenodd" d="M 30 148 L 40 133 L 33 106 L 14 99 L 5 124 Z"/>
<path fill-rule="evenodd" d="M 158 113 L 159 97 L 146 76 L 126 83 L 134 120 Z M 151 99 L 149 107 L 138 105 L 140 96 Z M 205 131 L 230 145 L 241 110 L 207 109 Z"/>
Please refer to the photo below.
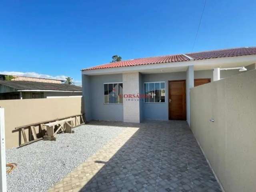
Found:
<path fill-rule="evenodd" d="M 0 72 L 71 76 L 82 68 L 166 54 L 256 46 L 255 0 L 6 0 Z M 17 73 L 18 74 L 18 73 Z"/>

